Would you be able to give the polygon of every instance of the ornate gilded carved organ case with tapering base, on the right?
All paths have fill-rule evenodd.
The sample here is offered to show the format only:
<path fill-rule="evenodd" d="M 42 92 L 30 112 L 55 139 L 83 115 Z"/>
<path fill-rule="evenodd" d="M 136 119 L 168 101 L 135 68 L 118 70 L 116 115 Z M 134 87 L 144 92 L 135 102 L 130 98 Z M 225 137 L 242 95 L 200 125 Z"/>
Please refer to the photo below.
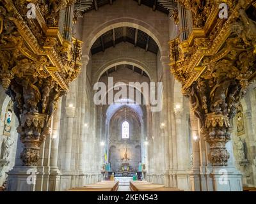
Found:
<path fill-rule="evenodd" d="M 246 13 L 253 2 L 181 0 L 196 28 L 188 40 L 169 43 L 171 72 L 200 121 L 213 166 L 227 165 L 230 120 L 256 72 L 256 22 Z M 220 3 L 228 4 L 227 19 L 218 18 Z"/>

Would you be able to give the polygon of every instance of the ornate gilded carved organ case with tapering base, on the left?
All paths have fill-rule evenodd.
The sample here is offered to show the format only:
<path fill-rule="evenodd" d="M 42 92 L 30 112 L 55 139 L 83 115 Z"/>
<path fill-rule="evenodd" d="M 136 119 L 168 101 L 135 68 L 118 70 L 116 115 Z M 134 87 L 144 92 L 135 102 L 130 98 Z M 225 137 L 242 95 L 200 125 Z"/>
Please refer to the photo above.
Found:
<path fill-rule="evenodd" d="M 27 4 L 35 4 L 28 18 Z M 40 144 L 49 135 L 51 116 L 58 100 L 81 69 L 79 40 L 64 40 L 60 10 L 72 1 L 40 0 L 0 3 L 0 83 L 13 101 L 18 117 L 21 159 L 36 165 Z"/>

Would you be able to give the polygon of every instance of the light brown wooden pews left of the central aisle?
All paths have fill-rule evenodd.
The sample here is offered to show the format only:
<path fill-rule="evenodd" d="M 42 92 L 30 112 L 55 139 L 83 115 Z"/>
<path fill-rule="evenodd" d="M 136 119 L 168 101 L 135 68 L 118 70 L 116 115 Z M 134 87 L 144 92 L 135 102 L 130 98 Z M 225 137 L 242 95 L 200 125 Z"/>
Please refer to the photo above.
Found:
<path fill-rule="evenodd" d="M 104 180 L 95 184 L 89 184 L 84 187 L 74 187 L 67 191 L 117 191 L 118 181 Z"/>

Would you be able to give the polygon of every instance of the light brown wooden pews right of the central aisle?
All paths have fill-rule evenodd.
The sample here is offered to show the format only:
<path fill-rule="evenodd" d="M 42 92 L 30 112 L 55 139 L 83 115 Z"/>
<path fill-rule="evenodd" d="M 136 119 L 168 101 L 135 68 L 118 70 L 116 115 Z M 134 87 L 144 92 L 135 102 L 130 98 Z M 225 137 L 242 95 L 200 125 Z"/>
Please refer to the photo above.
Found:
<path fill-rule="evenodd" d="M 164 187 L 161 184 L 153 184 L 152 182 L 146 181 L 131 181 L 131 191 L 183 191 L 175 187 Z"/>

